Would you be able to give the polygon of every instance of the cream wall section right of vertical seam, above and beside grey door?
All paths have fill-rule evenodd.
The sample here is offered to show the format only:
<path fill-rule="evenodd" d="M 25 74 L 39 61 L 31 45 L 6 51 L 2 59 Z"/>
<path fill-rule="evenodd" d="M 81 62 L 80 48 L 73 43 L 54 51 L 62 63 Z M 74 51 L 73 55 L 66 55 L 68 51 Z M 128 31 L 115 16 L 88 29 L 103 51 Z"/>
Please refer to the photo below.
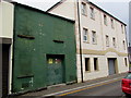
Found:
<path fill-rule="evenodd" d="M 126 39 L 126 29 L 123 29 L 124 32 L 122 33 L 121 32 L 121 23 L 114 20 L 115 22 L 115 28 L 111 28 L 111 22 L 110 22 L 110 16 L 107 15 L 107 26 L 104 24 L 104 13 L 102 12 L 102 22 L 103 22 L 103 39 L 105 41 L 104 44 L 104 49 L 108 49 L 108 48 L 112 48 L 115 50 L 117 50 L 118 52 L 122 52 L 122 53 L 128 53 L 128 48 L 127 48 L 127 39 Z M 123 24 L 122 24 L 123 25 Z M 123 25 L 124 27 L 124 25 Z M 109 47 L 106 47 L 106 38 L 105 36 L 108 35 L 109 36 Z M 112 46 L 112 37 L 116 38 L 116 48 Z M 123 44 L 122 41 L 126 41 L 126 49 L 123 48 Z M 129 62 L 128 62 L 128 66 L 126 66 L 126 63 L 124 63 L 124 58 L 128 59 L 128 56 L 127 57 L 122 57 L 122 56 L 118 56 L 117 53 L 114 53 L 114 52 L 108 52 L 106 54 L 106 58 L 117 58 L 118 60 L 118 72 L 119 73 L 123 73 L 123 72 L 127 72 L 129 70 Z"/>

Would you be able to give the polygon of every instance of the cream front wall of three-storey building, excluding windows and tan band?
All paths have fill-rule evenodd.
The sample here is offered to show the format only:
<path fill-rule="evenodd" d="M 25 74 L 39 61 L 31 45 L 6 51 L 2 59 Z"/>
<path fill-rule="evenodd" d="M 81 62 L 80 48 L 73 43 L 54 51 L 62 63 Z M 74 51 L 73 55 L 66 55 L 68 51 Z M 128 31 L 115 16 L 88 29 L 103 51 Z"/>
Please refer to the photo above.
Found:
<path fill-rule="evenodd" d="M 85 2 L 84 0 L 82 2 Z M 86 2 L 85 2 L 86 3 Z M 79 3 L 80 8 L 81 8 L 81 2 Z M 82 42 L 82 49 L 91 49 L 91 50 L 107 50 L 109 48 L 112 48 L 115 50 L 117 50 L 118 52 L 122 52 L 122 53 L 128 53 L 127 52 L 127 46 L 126 46 L 126 50 L 123 49 L 123 45 L 122 45 L 122 40 L 126 41 L 126 33 L 121 33 L 121 23 L 114 20 L 114 26 L 115 28 L 111 27 L 111 21 L 109 15 L 107 15 L 107 25 L 104 24 L 104 12 L 99 11 L 97 8 L 94 8 L 94 12 L 95 12 L 95 20 L 92 20 L 90 16 L 90 3 L 86 3 L 86 9 L 87 9 L 87 15 L 83 15 L 81 13 L 81 9 L 80 9 L 80 17 L 81 17 L 81 37 L 83 41 L 83 27 L 88 29 L 88 36 L 90 36 L 90 42 Z M 119 27 L 119 28 L 118 28 Z M 97 44 L 93 45 L 92 44 L 92 30 L 96 32 L 97 35 Z M 106 35 L 109 36 L 109 47 L 106 46 Z M 112 37 L 116 38 L 116 48 L 112 46 Z M 90 65 L 91 65 L 91 71 L 90 72 L 85 72 L 85 58 L 90 58 Z M 94 58 L 98 58 L 98 71 L 94 71 Z M 107 52 L 105 56 L 97 56 L 97 54 L 83 54 L 83 73 L 84 73 L 84 81 L 87 79 L 94 79 L 94 78 L 98 78 L 98 77 L 104 77 L 104 76 L 108 76 L 108 58 L 117 58 L 117 62 L 118 62 L 118 73 L 123 73 L 128 71 L 128 66 L 126 66 L 124 64 L 124 58 L 128 57 L 120 57 L 118 56 L 116 52 Z M 79 63 L 79 62 L 78 62 Z M 80 66 L 78 66 L 79 70 L 81 70 Z M 81 73 L 78 73 L 81 74 Z M 81 76 L 78 75 L 79 77 L 79 82 L 81 81 Z"/>

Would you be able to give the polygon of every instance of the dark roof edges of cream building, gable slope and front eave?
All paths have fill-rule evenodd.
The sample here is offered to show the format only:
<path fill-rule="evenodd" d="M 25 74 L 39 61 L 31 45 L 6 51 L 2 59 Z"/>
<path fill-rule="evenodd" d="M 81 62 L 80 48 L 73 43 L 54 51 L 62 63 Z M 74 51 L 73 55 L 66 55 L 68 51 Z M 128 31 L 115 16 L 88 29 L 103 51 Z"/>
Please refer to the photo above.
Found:
<path fill-rule="evenodd" d="M 57 8 L 58 5 L 60 5 L 61 3 L 63 3 L 64 1 L 66 1 L 66 0 L 61 0 L 61 1 L 57 2 L 57 3 L 53 4 L 51 8 L 49 8 L 46 12 L 51 11 L 52 9 Z M 122 21 L 118 20 L 117 17 L 115 17 L 114 15 L 111 15 L 110 13 L 108 13 L 107 11 L 103 10 L 102 8 L 99 8 L 98 5 L 96 5 L 95 3 L 93 3 L 93 2 L 91 2 L 91 1 L 88 1 L 88 0 L 86 0 L 86 1 L 87 1 L 87 3 L 96 7 L 98 10 L 103 11 L 104 13 L 108 14 L 108 15 L 111 16 L 112 19 L 117 20 L 118 22 L 120 22 L 120 23 L 122 23 L 124 26 L 127 26 L 126 23 L 123 23 Z"/>

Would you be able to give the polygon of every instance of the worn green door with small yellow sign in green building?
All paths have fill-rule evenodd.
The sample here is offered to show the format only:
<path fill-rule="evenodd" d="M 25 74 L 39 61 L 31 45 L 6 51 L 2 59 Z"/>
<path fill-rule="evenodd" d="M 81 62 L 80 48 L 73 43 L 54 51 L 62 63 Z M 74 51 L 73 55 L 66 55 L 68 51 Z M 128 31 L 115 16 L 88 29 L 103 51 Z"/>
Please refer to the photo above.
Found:
<path fill-rule="evenodd" d="M 47 57 L 47 83 L 56 85 L 63 83 L 63 59 L 61 56 Z"/>

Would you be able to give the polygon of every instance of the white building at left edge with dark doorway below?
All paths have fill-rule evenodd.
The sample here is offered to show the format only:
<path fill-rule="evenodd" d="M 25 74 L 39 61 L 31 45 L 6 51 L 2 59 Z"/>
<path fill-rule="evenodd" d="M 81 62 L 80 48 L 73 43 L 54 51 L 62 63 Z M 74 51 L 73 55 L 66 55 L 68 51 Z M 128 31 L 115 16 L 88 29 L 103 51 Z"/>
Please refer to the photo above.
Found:
<path fill-rule="evenodd" d="M 12 79 L 13 13 L 13 4 L 0 1 L 0 46 L 2 46 L 2 51 L 0 52 L 0 60 L 2 60 L 2 64 L 0 64 L 0 75 L 2 75 L 0 76 L 0 84 L 2 84 L 0 94 L 3 97 L 9 94 Z"/>

